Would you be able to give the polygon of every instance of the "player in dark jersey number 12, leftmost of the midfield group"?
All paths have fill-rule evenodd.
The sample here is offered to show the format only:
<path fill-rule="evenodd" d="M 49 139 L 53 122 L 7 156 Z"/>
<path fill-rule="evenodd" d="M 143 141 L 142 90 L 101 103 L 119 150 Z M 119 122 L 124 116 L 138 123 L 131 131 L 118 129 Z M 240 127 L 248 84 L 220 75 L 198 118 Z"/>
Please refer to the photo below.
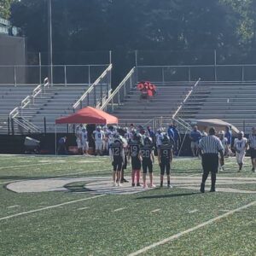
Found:
<path fill-rule="evenodd" d="M 109 156 L 113 165 L 113 187 L 122 186 L 120 183 L 122 166 L 125 163 L 125 152 L 122 140 L 119 136 L 114 138 L 113 143 L 109 147 Z M 116 183 L 117 182 L 117 183 Z"/>

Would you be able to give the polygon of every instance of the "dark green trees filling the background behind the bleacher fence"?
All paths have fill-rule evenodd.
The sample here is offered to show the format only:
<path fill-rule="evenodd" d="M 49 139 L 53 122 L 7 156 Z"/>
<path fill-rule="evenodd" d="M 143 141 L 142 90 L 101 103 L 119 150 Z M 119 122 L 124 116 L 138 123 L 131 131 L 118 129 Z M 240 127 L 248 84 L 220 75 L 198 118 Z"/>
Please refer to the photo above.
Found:
<path fill-rule="evenodd" d="M 12 5 L 28 51 L 47 52 L 47 2 Z M 54 63 L 88 64 L 81 52 L 111 49 L 121 79 L 136 49 L 172 52 L 143 56 L 145 65 L 213 64 L 214 49 L 218 64 L 255 62 L 255 13 L 256 0 L 52 0 Z"/>

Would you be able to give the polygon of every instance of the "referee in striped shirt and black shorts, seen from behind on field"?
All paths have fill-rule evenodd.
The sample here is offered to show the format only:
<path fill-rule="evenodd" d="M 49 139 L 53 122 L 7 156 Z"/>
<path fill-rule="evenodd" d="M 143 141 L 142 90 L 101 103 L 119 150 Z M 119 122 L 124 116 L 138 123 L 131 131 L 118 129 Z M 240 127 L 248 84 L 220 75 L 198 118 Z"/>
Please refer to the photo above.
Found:
<path fill-rule="evenodd" d="M 209 130 L 207 137 L 202 137 L 199 143 L 199 154 L 201 154 L 201 165 L 203 167 L 203 175 L 201 179 L 201 193 L 205 193 L 205 183 L 209 172 L 212 176 L 212 186 L 210 192 L 215 192 L 216 173 L 218 172 L 218 153 L 220 153 L 220 162 L 224 164 L 224 148 L 219 138 L 215 136 L 215 129 Z"/>

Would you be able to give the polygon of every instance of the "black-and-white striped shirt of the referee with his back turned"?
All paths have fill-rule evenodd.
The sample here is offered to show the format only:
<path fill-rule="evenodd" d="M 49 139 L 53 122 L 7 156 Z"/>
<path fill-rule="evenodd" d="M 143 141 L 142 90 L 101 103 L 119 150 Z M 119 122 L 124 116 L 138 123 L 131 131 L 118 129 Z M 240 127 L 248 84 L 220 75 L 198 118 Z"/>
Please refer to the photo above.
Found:
<path fill-rule="evenodd" d="M 219 138 L 214 135 L 202 137 L 198 147 L 201 148 L 202 154 L 218 154 L 220 150 L 224 150 Z"/>

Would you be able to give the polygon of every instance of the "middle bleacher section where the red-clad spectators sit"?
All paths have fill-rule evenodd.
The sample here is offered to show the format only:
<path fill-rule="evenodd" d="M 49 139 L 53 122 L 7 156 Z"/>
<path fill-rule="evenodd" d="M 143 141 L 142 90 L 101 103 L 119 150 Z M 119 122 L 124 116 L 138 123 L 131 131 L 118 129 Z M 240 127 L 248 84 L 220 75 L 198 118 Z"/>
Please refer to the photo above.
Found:
<path fill-rule="evenodd" d="M 170 122 L 183 99 L 195 83 L 166 83 L 156 84 L 157 93 L 150 99 L 141 99 L 140 91 L 136 88 L 125 97 L 125 101 L 115 108 L 113 115 L 119 118 L 119 125 L 151 125 L 150 120 L 168 117 Z M 165 118 L 165 119 L 166 119 Z M 166 125 L 166 124 L 165 124 Z"/>

